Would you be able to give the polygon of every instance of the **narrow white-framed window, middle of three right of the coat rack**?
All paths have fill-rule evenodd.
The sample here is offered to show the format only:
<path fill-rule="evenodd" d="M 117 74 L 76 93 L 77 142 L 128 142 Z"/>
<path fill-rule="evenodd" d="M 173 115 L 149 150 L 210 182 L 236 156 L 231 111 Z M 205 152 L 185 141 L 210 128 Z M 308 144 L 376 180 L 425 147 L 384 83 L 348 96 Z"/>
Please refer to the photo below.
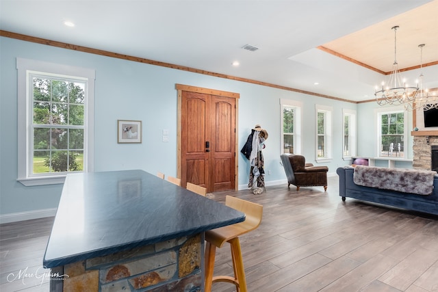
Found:
<path fill-rule="evenodd" d="M 332 158 L 332 112 L 333 107 L 315 105 L 316 112 L 316 161 Z"/>

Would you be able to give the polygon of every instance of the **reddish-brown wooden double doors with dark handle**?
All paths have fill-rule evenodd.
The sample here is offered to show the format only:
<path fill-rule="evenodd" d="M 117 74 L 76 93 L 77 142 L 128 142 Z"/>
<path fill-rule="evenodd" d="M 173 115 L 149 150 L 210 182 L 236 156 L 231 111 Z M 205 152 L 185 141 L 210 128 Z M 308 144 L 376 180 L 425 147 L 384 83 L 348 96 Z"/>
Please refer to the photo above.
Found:
<path fill-rule="evenodd" d="M 235 189 L 235 98 L 181 92 L 181 185 Z"/>

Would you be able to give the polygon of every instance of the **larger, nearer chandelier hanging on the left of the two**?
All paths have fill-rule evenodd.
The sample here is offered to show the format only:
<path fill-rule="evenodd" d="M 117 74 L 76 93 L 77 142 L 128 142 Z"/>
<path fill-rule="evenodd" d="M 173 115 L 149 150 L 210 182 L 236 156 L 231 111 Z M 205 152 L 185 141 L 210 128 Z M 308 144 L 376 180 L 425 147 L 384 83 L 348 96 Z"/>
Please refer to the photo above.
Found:
<path fill-rule="evenodd" d="M 404 105 L 405 107 L 415 107 L 415 96 L 418 93 L 418 85 L 409 86 L 405 80 L 400 77 L 400 70 L 397 63 L 397 29 L 398 26 L 392 27 L 394 29 L 394 64 L 392 64 L 391 75 L 389 81 L 385 86 L 382 83 L 382 89 L 378 90 L 374 95 L 378 105 Z M 392 87 L 390 87 L 392 86 Z"/>

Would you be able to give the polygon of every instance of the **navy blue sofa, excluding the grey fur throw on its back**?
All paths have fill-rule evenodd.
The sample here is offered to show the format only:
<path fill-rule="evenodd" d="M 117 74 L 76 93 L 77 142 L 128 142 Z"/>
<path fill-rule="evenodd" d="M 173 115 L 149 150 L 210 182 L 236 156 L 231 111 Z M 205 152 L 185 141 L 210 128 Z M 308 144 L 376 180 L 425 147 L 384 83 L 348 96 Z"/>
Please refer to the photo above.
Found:
<path fill-rule="evenodd" d="M 433 180 L 433 192 L 430 195 L 407 194 L 389 189 L 363 187 L 353 182 L 354 168 L 337 168 L 339 175 L 339 196 L 345 201 L 346 197 L 376 202 L 393 207 L 438 215 L 438 174 Z"/>

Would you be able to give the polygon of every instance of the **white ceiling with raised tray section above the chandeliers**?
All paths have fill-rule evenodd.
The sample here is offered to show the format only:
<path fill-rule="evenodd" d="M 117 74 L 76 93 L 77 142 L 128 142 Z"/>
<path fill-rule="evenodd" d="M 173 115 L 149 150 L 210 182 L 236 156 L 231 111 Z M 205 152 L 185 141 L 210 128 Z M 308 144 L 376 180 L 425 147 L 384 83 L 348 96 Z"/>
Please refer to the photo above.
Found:
<path fill-rule="evenodd" d="M 374 98 L 387 77 L 319 46 L 387 72 L 399 25 L 400 69 L 420 64 L 424 43 L 423 64 L 435 62 L 424 87 L 438 88 L 437 15 L 438 0 L 0 0 L 3 31 L 350 101 Z M 402 75 L 414 83 L 420 69 Z"/>

